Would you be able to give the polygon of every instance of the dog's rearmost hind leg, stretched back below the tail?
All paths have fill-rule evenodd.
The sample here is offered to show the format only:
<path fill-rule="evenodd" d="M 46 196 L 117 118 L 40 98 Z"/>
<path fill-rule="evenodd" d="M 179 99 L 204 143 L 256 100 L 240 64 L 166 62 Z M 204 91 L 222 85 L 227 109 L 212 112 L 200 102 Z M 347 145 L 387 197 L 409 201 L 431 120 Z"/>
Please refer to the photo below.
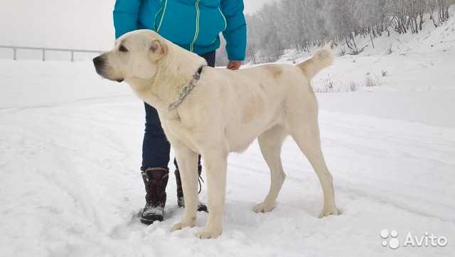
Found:
<path fill-rule="evenodd" d="M 305 110 L 304 108 L 294 110 L 292 113 L 287 113 L 287 122 L 291 136 L 308 158 L 321 182 L 324 202 L 319 218 L 338 215 L 333 192 L 333 178 L 327 169 L 321 150 L 317 110 Z"/>

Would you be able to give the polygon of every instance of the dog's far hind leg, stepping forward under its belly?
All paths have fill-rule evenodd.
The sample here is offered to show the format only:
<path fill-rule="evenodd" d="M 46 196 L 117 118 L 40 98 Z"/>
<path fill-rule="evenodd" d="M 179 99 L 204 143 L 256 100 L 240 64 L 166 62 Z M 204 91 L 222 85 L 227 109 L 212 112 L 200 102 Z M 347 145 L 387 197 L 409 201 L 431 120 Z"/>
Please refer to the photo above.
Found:
<path fill-rule="evenodd" d="M 262 156 L 267 162 L 270 169 L 270 189 L 269 194 L 265 196 L 262 203 L 257 204 L 253 211 L 267 212 L 272 211 L 275 201 L 277 200 L 279 191 L 282 189 L 286 174 L 283 172 L 282 159 L 280 153 L 284 138 L 287 136 L 287 132 L 282 126 L 274 126 L 271 129 L 263 132 L 257 138 L 259 147 L 261 148 Z"/>

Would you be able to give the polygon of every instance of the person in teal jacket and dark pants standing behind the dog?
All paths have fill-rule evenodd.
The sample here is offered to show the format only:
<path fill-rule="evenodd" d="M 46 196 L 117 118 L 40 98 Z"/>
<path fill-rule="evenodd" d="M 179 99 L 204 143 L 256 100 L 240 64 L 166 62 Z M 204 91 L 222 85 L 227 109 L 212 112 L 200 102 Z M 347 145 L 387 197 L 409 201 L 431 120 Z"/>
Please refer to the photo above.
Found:
<path fill-rule="evenodd" d="M 115 36 L 137 29 L 151 29 L 169 41 L 205 58 L 215 66 L 215 51 L 220 47 L 220 32 L 226 40 L 228 67 L 240 68 L 245 59 L 247 27 L 243 0 L 117 0 L 114 7 Z M 166 204 L 168 162 L 171 146 L 154 107 L 145 105 L 146 122 L 142 144 L 141 174 L 146 188 L 146 205 L 141 221 L 162 221 Z M 184 206 L 180 173 L 176 166 L 177 203 Z M 200 157 L 198 163 L 199 174 Z M 199 211 L 207 211 L 199 204 Z"/>

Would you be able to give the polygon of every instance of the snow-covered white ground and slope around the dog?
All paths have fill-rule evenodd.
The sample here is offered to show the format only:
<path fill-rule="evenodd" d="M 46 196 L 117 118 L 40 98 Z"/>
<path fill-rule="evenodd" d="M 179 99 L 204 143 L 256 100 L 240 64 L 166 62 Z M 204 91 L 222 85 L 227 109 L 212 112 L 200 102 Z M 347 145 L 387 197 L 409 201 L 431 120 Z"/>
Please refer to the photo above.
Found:
<path fill-rule="evenodd" d="M 387 71 L 378 86 L 318 94 L 341 216 L 317 218 L 319 182 L 290 139 L 277 206 L 255 214 L 269 172 L 254 143 L 230 156 L 223 235 L 205 241 L 198 227 L 169 232 L 183 214 L 172 176 L 166 220 L 139 223 L 144 110 L 127 85 L 88 62 L 0 61 L 0 256 L 454 256 L 454 20 L 419 43 L 393 38 L 390 55 L 378 42 L 336 58 L 315 78 L 342 88 Z M 198 214 L 198 226 L 206 219 Z M 382 246 L 383 229 L 397 231 L 400 248 Z M 448 245 L 403 247 L 408 232 Z"/>

